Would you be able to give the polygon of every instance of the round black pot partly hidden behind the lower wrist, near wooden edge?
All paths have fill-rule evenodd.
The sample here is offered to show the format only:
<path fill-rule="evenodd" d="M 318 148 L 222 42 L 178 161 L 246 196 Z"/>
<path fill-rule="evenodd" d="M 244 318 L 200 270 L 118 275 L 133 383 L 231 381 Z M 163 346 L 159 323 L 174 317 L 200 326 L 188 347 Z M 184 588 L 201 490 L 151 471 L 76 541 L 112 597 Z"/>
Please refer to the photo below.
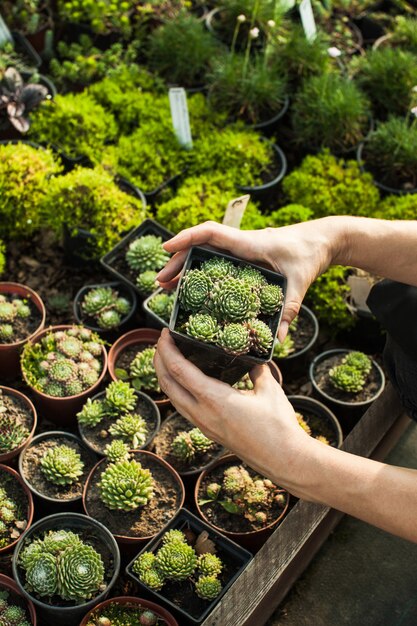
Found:
<path fill-rule="evenodd" d="M 335 448 L 343 443 L 343 432 L 336 415 L 324 404 L 308 396 L 287 396 L 295 411 L 311 416 L 313 436 L 324 435 Z M 314 431 L 317 431 L 315 433 Z"/>

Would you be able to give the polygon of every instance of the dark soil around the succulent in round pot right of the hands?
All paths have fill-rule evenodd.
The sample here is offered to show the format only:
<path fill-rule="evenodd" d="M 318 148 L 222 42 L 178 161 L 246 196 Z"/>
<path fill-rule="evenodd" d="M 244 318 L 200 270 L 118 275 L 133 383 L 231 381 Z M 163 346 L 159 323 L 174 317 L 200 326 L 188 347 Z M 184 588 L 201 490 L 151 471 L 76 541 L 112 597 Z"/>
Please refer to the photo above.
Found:
<path fill-rule="evenodd" d="M 324 393 L 342 402 L 366 402 L 367 400 L 371 400 L 381 388 L 381 377 L 374 365 L 372 365 L 372 369 L 368 374 L 365 387 L 358 393 L 342 391 L 342 389 L 338 389 L 330 382 L 329 370 L 336 365 L 340 365 L 345 356 L 346 353 L 340 353 L 328 359 L 324 359 L 316 365 L 313 375 L 317 386 Z"/>

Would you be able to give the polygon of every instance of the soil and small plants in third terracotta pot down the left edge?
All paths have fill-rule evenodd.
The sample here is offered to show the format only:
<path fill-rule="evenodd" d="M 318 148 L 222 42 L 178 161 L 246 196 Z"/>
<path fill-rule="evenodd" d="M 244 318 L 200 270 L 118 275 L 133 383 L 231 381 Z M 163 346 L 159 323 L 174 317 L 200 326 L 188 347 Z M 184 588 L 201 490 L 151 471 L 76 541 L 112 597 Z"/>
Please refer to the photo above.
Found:
<path fill-rule="evenodd" d="M 27 495 L 15 476 L 0 467 L 0 552 L 20 538 L 27 524 Z"/>

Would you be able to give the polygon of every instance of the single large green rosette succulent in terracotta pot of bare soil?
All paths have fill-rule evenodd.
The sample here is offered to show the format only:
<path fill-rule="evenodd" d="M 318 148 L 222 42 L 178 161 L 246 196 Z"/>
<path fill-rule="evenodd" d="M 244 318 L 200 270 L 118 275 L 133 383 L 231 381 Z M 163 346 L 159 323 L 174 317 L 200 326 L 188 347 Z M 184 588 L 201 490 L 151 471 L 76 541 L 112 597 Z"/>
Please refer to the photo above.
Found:
<path fill-rule="evenodd" d="M 135 460 L 111 463 L 100 477 L 100 497 L 111 510 L 133 511 L 153 496 L 153 477 Z"/>

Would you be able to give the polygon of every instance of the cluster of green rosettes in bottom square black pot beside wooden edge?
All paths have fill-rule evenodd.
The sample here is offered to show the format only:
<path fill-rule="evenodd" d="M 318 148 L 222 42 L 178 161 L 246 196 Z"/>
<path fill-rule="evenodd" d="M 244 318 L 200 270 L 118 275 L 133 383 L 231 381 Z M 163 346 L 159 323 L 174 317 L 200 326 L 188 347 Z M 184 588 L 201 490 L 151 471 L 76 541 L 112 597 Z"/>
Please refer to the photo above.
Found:
<path fill-rule="evenodd" d="M 189 580 L 203 600 L 214 600 L 222 590 L 219 578 L 223 563 L 215 554 L 196 550 L 181 530 L 169 530 L 154 554 L 143 552 L 134 561 L 132 570 L 150 589 L 160 591 L 168 581 Z"/>

